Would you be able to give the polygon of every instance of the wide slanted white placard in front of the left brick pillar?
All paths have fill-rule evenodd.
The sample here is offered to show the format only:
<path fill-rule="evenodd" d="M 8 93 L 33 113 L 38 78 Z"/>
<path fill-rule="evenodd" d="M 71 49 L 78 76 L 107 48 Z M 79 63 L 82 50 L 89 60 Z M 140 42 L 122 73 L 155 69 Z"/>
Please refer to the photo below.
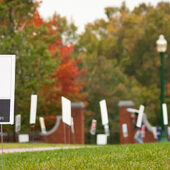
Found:
<path fill-rule="evenodd" d="M 62 120 L 64 123 L 71 126 L 71 101 L 62 96 L 61 102 L 62 102 Z"/>

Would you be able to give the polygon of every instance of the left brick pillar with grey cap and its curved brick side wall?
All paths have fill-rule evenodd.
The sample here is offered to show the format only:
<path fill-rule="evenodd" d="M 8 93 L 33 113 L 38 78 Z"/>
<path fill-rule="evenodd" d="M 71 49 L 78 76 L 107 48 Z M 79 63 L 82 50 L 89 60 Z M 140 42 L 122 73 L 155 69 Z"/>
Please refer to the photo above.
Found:
<path fill-rule="evenodd" d="M 40 140 L 46 143 L 84 144 L 84 104 L 82 102 L 72 103 L 71 115 L 74 120 L 74 133 L 70 126 L 60 120 L 58 129 L 48 136 L 42 136 Z"/>

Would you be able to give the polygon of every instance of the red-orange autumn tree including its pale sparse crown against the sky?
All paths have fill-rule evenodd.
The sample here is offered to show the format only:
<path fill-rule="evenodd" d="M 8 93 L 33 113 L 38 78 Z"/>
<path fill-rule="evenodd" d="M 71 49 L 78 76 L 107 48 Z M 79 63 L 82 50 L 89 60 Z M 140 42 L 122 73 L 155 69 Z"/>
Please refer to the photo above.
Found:
<path fill-rule="evenodd" d="M 61 96 L 68 97 L 73 102 L 85 101 L 86 94 L 81 93 L 84 83 L 80 81 L 85 70 L 79 68 L 81 58 L 73 55 L 76 27 L 72 23 L 69 25 L 65 17 L 57 14 L 43 24 L 48 29 L 47 35 L 53 37 L 48 49 L 51 57 L 59 60 L 59 66 L 51 74 L 53 85 L 44 87 L 43 95 L 48 95 L 41 108 L 45 115 L 56 115 L 61 114 Z"/>

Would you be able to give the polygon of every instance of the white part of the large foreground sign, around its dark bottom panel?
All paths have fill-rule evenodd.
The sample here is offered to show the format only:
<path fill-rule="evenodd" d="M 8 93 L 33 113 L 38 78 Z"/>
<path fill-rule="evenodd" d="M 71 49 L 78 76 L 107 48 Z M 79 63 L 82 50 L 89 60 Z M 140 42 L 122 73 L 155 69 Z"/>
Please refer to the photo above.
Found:
<path fill-rule="evenodd" d="M 0 99 L 10 101 L 9 121 L 1 124 L 14 124 L 14 91 L 15 55 L 0 55 Z"/>

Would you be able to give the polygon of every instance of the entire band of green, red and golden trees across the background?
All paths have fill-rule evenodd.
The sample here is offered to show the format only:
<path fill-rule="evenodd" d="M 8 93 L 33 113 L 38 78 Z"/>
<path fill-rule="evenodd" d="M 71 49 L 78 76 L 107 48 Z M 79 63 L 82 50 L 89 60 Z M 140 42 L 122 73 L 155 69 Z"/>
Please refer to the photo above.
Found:
<path fill-rule="evenodd" d="M 103 130 L 99 101 L 106 99 L 111 131 L 119 129 L 120 100 L 133 100 L 154 125 L 160 122 L 160 56 L 156 40 L 170 40 L 170 3 L 145 3 L 130 11 L 107 7 L 107 19 L 88 23 L 78 35 L 74 23 L 55 13 L 43 19 L 33 0 L 0 0 L 0 52 L 15 54 L 15 113 L 28 128 L 30 95 L 38 94 L 38 114 L 61 114 L 61 96 L 86 103 Z M 166 103 L 170 108 L 170 44 L 165 55 Z M 170 116 L 169 116 L 170 117 Z"/>

